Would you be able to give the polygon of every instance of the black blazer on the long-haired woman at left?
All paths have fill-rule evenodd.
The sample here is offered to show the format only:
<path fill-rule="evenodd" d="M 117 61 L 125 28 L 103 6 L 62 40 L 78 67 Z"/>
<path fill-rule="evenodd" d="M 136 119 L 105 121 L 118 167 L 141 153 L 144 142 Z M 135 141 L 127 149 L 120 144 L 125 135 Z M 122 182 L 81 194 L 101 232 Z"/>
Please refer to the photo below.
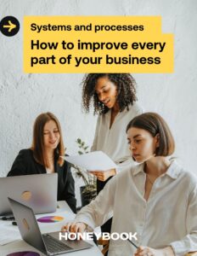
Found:
<path fill-rule="evenodd" d="M 58 173 L 58 201 L 65 200 L 76 213 L 75 182 L 70 172 L 70 164 L 64 161 L 59 166 L 57 157 L 54 160 L 54 172 Z M 44 166 L 37 163 L 31 149 L 22 149 L 14 160 L 8 176 L 47 173 Z"/>

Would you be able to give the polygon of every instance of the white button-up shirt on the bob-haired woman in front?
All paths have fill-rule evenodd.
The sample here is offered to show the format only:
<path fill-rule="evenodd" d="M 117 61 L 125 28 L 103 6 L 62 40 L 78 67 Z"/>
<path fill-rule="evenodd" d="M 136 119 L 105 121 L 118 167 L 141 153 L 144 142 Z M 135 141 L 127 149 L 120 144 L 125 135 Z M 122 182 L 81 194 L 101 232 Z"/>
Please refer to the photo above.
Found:
<path fill-rule="evenodd" d="M 113 177 L 97 198 L 76 215 L 76 221 L 95 228 L 113 210 L 111 232 L 137 232 L 138 246 L 172 246 L 175 255 L 197 250 L 197 178 L 174 160 L 155 180 L 145 201 L 144 164 Z M 128 241 L 110 241 L 109 256 L 131 256 Z"/>

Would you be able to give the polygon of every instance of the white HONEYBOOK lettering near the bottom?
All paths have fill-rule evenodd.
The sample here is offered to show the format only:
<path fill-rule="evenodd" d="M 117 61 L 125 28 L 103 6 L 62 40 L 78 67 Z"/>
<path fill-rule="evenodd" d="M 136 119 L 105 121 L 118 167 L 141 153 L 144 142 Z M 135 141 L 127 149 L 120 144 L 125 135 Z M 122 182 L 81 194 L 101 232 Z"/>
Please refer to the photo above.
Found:
<path fill-rule="evenodd" d="M 133 239 L 135 239 L 135 241 L 138 241 L 138 234 L 137 232 L 135 232 L 134 234 L 132 234 L 132 232 L 126 233 L 126 232 L 122 232 L 122 233 L 117 233 L 117 232 L 113 232 L 113 233 L 93 233 L 93 232 L 84 232 L 83 234 L 81 233 L 72 233 L 72 232 L 59 232 L 59 240 L 61 241 L 62 239 L 65 240 L 89 240 L 89 241 L 93 241 L 93 236 L 97 237 L 97 240 L 99 239 L 99 237 L 102 236 L 103 240 L 130 240 L 132 241 Z"/>

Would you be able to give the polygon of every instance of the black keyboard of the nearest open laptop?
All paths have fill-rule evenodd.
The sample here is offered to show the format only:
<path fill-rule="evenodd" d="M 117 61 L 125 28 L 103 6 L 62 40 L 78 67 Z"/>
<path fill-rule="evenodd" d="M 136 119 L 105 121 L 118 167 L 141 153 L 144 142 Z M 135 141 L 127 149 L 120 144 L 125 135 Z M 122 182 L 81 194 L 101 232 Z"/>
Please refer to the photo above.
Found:
<path fill-rule="evenodd" d="M 44 235 L 42 237 L 49 253 L 65 252 L 72 249 L 71 247 L 66 246 L 61 241 L 58 241 L 57 239 L 55 239 L 53 236 Z"/>

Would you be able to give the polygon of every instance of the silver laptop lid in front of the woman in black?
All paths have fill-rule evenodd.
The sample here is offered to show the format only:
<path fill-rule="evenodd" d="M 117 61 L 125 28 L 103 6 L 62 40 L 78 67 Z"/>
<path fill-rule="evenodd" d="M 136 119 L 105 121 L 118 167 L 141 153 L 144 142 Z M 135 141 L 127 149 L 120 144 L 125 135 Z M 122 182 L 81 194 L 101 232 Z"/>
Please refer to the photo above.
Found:
<path fill-rule="evenodd" d="M 12 212 L 8 197 L 30 206 L 35 213 L 55 212 L 57 191 L 57 173 L 0 177 L 0 215 Z"/>

